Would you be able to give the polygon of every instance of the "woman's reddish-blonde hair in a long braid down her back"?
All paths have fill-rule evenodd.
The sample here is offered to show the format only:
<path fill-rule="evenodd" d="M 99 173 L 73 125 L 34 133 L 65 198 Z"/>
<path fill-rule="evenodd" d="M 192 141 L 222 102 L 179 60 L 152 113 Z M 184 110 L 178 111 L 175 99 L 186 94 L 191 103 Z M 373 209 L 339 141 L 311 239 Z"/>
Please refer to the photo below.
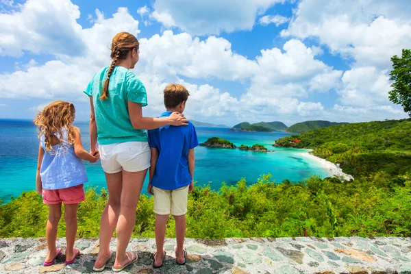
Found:
<path fill-rule="evenodd" d="M 110 84 L 110 77 L 117 61 L 127 58 L 127 54 L 132 49 L 138 50 L 139 45 L 140 43 L 138 42 L 136 36 L 129 34 L 128 32 L 120 32 L 119 34 L 116 34 L 116 36 L 114 36 L 111 47 L 112 52 L 110 54 L 112 62 L 110 64 L 110 69 L 108 69 L 107 79 L 105 80 L 102 95 L 100 97 L 102 101 L 108 98 L 108 86 Z"/>

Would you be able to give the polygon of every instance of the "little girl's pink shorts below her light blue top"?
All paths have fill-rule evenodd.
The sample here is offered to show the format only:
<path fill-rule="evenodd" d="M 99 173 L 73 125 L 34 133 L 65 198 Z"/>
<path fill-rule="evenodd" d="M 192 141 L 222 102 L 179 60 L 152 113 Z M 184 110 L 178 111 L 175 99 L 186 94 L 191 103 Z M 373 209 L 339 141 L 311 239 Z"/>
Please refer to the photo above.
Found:
<path fill-rule="evenodd" d="M 58 203 L 79 203 L 86 199 L 83 184 L 55 190 L 42 190 L 43 203 L 46 205 L 57 205 Z"/>

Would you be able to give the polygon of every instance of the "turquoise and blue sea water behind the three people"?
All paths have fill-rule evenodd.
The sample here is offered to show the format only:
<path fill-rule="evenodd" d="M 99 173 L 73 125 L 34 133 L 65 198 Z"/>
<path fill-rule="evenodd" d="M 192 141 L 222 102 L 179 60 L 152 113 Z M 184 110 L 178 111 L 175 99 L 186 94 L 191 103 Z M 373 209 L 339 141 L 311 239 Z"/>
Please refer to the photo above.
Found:
<path fill-rule="evenodd" d="M 89 147 L 88 123 L 75 123 L 82 132 L 83 145 Z M 300 181 L 309 175 L 329 175 L 316 162 L 301 157 L 301 150 L 273 147 L 278 138 L 288 136 L 285 132 L 230 132 L 229 128 L 197 127 L 199 142 L 210 137 L 221 137 L 234 145 L 264 145 L 271 153 L 240 151 L 238 149 L 212 149 L 198 147 L 195 151 L 195 181 L 197 186 L 210 185 L 219 189 L 221 182 L 236 184 L 241 177 L 248 184 L 257 181 L 260 175 L 271 173 L 275 182 L 284 179 Z M 25 190 L 35 189 L 38 138 L 36 127 L 31 121 L 0 119 L 0 197 L 8 201 Z M 86 186 L 101 188 L 105 186 L 103 170 L 99 162 L 86 162 L 89 182 Z M 148 179 L 146 178 L 145 186 Z M 143 187 L 142 193 L 146 193 Z"/>

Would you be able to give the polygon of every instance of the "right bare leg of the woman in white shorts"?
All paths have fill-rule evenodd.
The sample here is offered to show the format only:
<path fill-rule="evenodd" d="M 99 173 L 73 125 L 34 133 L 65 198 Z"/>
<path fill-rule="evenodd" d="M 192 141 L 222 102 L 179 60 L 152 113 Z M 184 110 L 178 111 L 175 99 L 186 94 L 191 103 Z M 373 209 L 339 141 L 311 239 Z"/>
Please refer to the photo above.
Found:
<path fill-rule="evenodd" d="M 117 253 L 114 262 L 116 269 L 132 260 L 132 254 L 126 254 L 125 250 L 132 237 L 134 225 L 136 225 L 136 207 L 146 174 L 147 169 L 138 172 L 123 171 L 121 210 L 117 222 Z"/>

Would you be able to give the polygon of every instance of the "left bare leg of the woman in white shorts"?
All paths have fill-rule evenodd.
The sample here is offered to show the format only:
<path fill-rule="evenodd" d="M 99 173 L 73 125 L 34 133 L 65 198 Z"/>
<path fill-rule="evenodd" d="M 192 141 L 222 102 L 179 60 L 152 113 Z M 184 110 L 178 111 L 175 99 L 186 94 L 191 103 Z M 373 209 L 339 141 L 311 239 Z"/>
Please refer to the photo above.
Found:
<path fill-rule="evenodd" d="M 105 173 L 108 188 L 108 202 L 105 205 L 100 221 L 100 249 L 95 267 L 101 268 L 110 256 L 110 240 L 112 239 L 120 215 L 121 190 L 123 189 L 123 175 L 121 172 Z"/>

